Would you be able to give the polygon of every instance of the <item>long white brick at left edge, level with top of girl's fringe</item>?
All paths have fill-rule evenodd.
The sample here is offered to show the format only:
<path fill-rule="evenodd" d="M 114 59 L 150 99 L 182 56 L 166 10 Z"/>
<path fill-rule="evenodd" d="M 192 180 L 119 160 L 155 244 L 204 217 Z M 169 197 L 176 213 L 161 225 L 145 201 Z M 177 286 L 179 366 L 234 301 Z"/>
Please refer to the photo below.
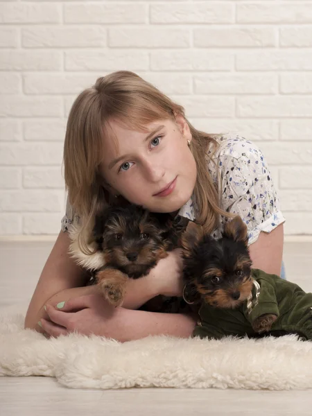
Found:
<path fill-rule="evenodd" d="M 62 100 L 56 97 L 2 96 L 0 116 L 62 116 Z"/>

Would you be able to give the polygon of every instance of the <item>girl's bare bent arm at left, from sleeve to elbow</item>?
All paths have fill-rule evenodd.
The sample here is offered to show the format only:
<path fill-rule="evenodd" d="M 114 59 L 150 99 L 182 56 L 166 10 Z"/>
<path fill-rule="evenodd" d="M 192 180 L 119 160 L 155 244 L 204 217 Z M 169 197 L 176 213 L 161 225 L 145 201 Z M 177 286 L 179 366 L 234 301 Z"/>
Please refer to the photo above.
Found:
<path fill-rule="evenodd" d="M 69 257 L 68 250 L 68 233 L 61 231 L 44 265 L 28 306 L 25 328 L 40 330 L 37 322 L 42 317 L 46 318 L 43 308 L 51 298 L 53 298 L 52 303 L 57 304 L 60 300 L 64 301 L 69 297 L 90 293 L 89 287 L 78 287 L 85 285 L 87 277 L 83 269 Z M 65 291 L 64 294 L 63 291 Z"/>

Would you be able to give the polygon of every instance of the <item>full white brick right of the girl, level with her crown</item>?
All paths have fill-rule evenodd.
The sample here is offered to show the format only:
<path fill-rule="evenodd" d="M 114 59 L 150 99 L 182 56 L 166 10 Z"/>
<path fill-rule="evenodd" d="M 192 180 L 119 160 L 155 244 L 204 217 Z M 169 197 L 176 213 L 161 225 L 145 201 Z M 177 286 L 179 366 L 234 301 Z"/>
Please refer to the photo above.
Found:
<path fill-rule="evenodd" d="M 193 78 L 195 94 L 274 94 L 278 90 L 276 73 L 208 73 Z"/>

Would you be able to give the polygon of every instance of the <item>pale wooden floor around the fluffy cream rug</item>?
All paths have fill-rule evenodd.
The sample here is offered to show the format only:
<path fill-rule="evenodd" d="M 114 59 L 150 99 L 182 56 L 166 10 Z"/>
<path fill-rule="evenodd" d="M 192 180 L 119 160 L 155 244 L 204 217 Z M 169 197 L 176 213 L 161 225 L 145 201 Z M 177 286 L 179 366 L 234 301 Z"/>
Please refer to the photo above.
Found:
<path fill-rule="evenodd" d="M 0 242 L 0 306 L 30 300 L 52 243 Z M 288 280 L 312 292 L 312 243 L 286 243 Z M 287 363 L 285 363 L 287 365 Z M 312 365 L 312 363 L 307 363 Z M 0 415 L 312 415 L 312 389 L 73 390 L 46 377 L 0 377 Z"/>

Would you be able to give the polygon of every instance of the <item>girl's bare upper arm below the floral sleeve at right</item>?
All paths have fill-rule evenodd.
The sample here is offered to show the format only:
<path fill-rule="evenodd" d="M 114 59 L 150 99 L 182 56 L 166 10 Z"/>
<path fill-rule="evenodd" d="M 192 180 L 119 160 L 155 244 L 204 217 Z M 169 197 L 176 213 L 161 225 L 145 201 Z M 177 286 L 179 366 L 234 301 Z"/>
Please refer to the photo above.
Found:
<path fill-rule="evenodd" d="M 283 243 L 283 224 L 278 225 L 269 233 L 261 232 L 257 241 L 249 246 L 252 267 L 280 276 Z"/>

